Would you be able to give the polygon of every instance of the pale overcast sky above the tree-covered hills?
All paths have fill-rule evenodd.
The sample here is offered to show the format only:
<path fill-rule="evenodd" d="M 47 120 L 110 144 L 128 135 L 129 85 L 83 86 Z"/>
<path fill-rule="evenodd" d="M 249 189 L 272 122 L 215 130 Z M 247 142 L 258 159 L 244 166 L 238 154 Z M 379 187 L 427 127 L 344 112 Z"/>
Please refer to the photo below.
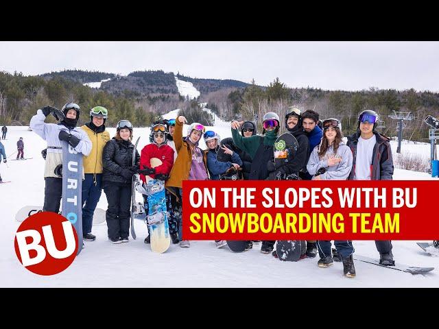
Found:
<path fill-rule="evenodd" d="M 0 71 L 178 71 L 267 86 L 439 91 L 439 42 L 2 42 Z"/>

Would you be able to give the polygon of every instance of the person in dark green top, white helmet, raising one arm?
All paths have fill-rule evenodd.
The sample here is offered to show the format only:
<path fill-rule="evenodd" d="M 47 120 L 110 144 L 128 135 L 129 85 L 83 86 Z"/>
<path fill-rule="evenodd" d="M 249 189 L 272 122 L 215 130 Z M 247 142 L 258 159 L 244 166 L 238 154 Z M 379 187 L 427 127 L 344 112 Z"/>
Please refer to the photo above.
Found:
<path fill-rule="evenodd" d="M 268 162 L 274 160 L 274 142 L 279 132 L 279 117 L 274 112 L 268 112 L 263 116 L 262 135 L 249 137 L 241 136 L 238 132 L 239 127 L 244 125 L 244 121 L 232 121 L 232 138 L 236 147 L 246 151 L 252 158 L 249 180 L 265 180 L 268 178 Z M 263 241 L 261 252 L 270 254 L 273 250 L 274 241 Z M 250 245 L 246 249 L 250 249 Z"/>

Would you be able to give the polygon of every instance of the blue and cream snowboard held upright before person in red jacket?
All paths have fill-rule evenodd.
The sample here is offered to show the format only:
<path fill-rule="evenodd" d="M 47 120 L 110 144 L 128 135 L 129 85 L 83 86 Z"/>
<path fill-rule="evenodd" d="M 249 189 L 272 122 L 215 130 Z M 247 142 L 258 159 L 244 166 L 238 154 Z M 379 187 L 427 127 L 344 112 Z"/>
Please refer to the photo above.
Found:
<path fill-rule="evenodd" d="M 162 164 L 158 158 L 151 159 L 151 167 L 155 168 Z M 146 176 L 146 191 L 148 200 L 147 225 L 151 234 L 151 250 L 153 252 L 165 252 L 171 245 L 169 223 L 167 221 L 167 206 L 165 195 L 165 182 Z"/>

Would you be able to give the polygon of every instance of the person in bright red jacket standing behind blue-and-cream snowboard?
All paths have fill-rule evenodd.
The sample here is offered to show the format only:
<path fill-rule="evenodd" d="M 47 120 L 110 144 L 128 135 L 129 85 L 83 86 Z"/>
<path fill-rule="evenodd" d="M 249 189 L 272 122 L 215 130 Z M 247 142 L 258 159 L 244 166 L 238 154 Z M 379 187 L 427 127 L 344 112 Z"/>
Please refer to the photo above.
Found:
<path fill-rule="evenodd" d="M 156 180 L 167 180 L 169 178 L 169 173 L 171 173 L 172 166 L 174 165 L 174 149 L 167 145 L 167 125 L 165 121 L 159 120 L 155 121 L 151 125 L 150 132 L 150 144 L 145 145 L 141 151 L 140 156 L 140 178 L 145 184 L 146 175 L 150 178 L 155 178 Z M 162 161 L 162 164 L 152 168 L 151 159 L 158 158 Z M 165 197 L 167 201 L 167 210 L 169 211 L 169 216 L 167 217 L 169 223 L 169 234 L 171 235 L 172 243 L 180 242 L 178 240 L 178 227 L 174 219 L 174 214 L 170 206 L 169 192 L 165 192 Z M 148 213 L 148 196 L 143 194 L 143 204 L 145 206 L 145 212 Z M 148 232 L 149 228 L 148 228 Z M 151 234 L 145 238 L 145 243 L 151 243 Z"/>

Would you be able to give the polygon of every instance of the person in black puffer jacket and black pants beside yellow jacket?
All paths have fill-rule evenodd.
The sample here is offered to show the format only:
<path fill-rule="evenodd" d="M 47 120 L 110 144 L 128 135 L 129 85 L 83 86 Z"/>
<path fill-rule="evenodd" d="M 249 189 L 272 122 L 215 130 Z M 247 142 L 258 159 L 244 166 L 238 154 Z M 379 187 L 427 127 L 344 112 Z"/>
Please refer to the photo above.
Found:
<path fill-rule="evenodd" d="M 108 240 L 115 244 L 129 241 L 132 176 L 139 173 L 140 162 L 139 152 L 134 150 L 131 141 L 132 124 L 121 120 L 116 125 L 116 136 L 106 143 L 102 155 L 102 188 L 108 202 L 105 216 Z"/>

